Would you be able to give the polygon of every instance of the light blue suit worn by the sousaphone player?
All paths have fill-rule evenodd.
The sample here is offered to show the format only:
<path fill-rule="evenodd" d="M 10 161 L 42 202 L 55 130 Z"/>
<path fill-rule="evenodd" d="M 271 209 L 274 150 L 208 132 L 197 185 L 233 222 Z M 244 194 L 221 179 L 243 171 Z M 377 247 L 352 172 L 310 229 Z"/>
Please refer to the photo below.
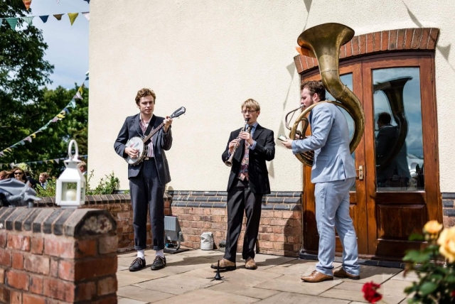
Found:
<path fill-rule="evenodd" d="M 311 183 L 315 183 L 316 222 L 319 232 L 319 263 L 316 270 L 333 276 L 335 230 L 343 244 L 343 268 L 358 276 L 357 237 L 349 215 L 349 189 L 355 183 L 355 164 L 349 151 L 346 117 L 334 104 L 321 102 L 311 111 L 311 133 L 292 141 L 292 152 L 314 150 Z"/>

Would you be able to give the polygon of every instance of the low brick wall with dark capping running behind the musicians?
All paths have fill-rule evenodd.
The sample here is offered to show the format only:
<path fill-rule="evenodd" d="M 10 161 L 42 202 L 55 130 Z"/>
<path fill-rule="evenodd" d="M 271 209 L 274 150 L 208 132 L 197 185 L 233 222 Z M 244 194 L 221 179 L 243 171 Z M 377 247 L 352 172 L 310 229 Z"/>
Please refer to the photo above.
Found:
<path fill-rule="evenodd" d="M 200 248 L 200 234 L 212 232 L 215 246 L 226 238 L 228 215 L 226 192 L 171 191 L 165 193 L 165 214 L 178 217 L 183 245 Z M 36 205 L 53 206 L 53 197 L 43 197 Z M 129 195 L 87 196 L 84 207 L 109 211 L 117 221 L 118 252 L 134 250 L 132 208 Z M 148 221 L 149 223 L 149 221 Z M 246 217 L 243 219 L 239 247 L 242 249 Z M 302 244 L 301 192 L 272 192 L 264 195 L 257 249 L 263 254 L 298 256 Z M 147 247 L 151 248 L 150 224 L 147 224 Z M 216 248 L 215 247 L 215 248 Z"/>

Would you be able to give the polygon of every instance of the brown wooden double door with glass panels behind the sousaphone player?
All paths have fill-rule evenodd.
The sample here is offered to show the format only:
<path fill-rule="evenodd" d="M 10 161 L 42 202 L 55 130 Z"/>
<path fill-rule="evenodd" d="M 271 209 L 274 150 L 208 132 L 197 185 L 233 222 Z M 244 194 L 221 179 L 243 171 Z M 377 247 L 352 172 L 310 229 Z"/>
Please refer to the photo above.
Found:
<path fill-rule="evenodd" d="M 433 63 L 431 54 L 407 54 L 341 64 L 342 81 L 350 77 L 352 84 L 345 84 L 365 112 L 365 134 L 355 150 L 363 180 L 350 191 L 364 258 L 400 259 L 421 245 L 409 241 L 410 234 L 422 232 L 429 219 L 442 221 Z M 319 71 L 302 75 L 302 81 L 319 79 Z M 383 124 L 387 113 L 390 123 Z M 384 136 L 387 130 L 391 137 Z M 316 253 L 318 242 L 311 168 L 304 167 L 304 251 Z M 342 251 L 338 239 L 336 251 Z"/>

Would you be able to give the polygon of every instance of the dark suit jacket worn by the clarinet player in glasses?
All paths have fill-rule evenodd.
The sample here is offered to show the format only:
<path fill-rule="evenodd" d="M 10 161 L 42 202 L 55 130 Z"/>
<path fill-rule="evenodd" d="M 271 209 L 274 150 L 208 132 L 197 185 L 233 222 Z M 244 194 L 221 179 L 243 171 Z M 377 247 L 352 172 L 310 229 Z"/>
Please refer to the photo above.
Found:
<path fill-rule="evenodd" d="M 228 145 L 221 156 L 223 162 L 228 161 L 229 158 L 229 143 L 237 139 L 240 134 L 240 129 L 232 131 L 229 136 Z M 265 161 L 272 161 L 275 157 L 275 141 L 273 131 L 265 129 L 264 127 L 257 125 L 253 139 L 256 141 L 255 150 L 250 150 L 250 161 L 248 164 L 248 177 L 250 179 L 251 192 L 256 194 L 269 194 L 270 183 L 269 183 L 269 171 L 265 165 Z M 235 178 L 240 170 L 242 163 L 243 154 L 245 153 L 245 141 L 242 140 L 239 143 L 239 147 L 234 153 L 232 160 L 232 167 L 230 169 L 228 191 L 234 184 Z"/>

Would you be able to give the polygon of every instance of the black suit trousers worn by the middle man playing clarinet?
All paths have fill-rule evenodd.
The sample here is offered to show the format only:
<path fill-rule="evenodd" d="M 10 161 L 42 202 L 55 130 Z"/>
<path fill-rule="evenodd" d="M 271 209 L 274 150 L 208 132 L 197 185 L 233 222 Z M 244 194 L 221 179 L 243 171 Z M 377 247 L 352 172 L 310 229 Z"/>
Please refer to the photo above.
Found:
<path fill-rule="evenodd" d="M 243 239 L 242 259 L 255 258 L 255 244 L 261 219 L 262 194 L 251 192 L 248 181 L 235 179 L 228 191 L 228 235 L 224 258 L 235 262 L 237 241 L 242 229 L 243 210 L 247 215 L 247 227 Z"/>

